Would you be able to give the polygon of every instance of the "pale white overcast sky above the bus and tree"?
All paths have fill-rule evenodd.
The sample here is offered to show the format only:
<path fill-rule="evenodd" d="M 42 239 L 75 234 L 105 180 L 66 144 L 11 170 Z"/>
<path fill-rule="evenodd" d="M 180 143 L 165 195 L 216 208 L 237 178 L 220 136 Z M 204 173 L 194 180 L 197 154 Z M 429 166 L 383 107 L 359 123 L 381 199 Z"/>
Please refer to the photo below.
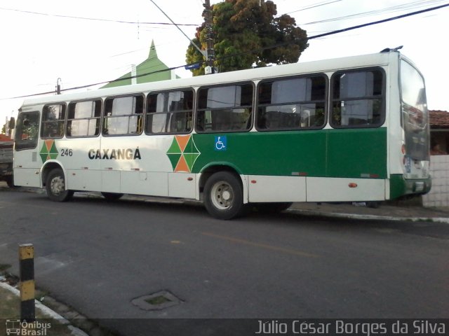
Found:
<path fill-rule="evenodd" d="M 190 38 L 201 25 L 203 0 L 153 0 Z M 264 0 L 260 0 L 264 1 Z M 211 0 L 210 3 L 220 1 Z M 16 116 L 27 94 L 105 82 L 148 57 L 154 41 L 169 67 L 186 63 L 189 40 L 150 0 L 2 0 L 0 125 Z M 278 14 L 316 36 L 448 4 L 443 0 L 274 0 Z M 449 7 L 309 40 L 299 62 L 363 55 L 403 45 L 422 71 L 429 109 L 449 111 Z M 177 69 L 187 78 L 190 71 Z M 98 86 L 96 86 L 98 87 Z M 83 90 L 95 90 L 95 87 Z"/>

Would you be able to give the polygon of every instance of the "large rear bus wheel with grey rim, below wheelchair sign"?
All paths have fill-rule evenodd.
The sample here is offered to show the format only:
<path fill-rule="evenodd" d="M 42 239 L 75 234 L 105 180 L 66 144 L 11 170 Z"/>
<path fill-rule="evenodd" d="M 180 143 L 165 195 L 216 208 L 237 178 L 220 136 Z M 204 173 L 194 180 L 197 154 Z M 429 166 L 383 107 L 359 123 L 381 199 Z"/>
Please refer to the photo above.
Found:
<path fill-rule="evenodd" d="M 243 214 L 243 188 L 241 181 L 230 172 L 217 172 L 204 186 L 204 205 L 217 219 L 232 219 Z"/>

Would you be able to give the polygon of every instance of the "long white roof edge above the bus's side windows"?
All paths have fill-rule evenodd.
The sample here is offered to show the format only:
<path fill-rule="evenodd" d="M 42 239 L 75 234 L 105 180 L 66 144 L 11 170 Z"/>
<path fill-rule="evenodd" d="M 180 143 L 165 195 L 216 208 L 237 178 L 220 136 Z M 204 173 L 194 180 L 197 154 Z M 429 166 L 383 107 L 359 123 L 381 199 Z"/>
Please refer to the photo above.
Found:
<path fill-rule="evenodd" d="M 91 91 L 73 92 L 58 95 L 53 94 L 43 97 L 33 97 L 25 99 L 22 107 L 38 104 L 51 104 L 56 102 L 69 102 L 72 100 L 117 96 L 122 94 L 132 94 L 134 92 L 152 92 L 159 90 L 180 89 L 183 87 L 201 87 L 205 85 L 234 83 L 244 80 L 262 80 L 264 78 L 291 76 L 300 73 L 319 73 L 337 71 L 339 69 L 382 66 L 389 64 L 389 62 L 391 62 L 391 57 L 393 57 L 393 59 L 398 59 L 399 55 L 400 53 L 397 51 L 379 52 L 368 55 L 322 59 L 312 62 L 298 62 L 295 64 L 284 64 L 267 66 L 257 69 L 215 73 L 213 75 L 196 76 L 192 78 L 178 78 L 173 80 L 161 80 L 158 82 L 123 85 L 119 87 L 111 87 Z"/>

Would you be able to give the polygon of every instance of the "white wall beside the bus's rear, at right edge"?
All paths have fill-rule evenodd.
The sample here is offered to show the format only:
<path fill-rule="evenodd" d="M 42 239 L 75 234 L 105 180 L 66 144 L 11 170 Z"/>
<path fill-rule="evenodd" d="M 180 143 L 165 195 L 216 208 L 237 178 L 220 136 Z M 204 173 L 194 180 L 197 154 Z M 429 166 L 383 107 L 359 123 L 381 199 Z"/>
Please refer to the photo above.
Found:
<path fill-rule="evenodd" d="M 431 155 L 432 188 L 422 197 L 424 207 L 449 207 L 449 155 Z"/>

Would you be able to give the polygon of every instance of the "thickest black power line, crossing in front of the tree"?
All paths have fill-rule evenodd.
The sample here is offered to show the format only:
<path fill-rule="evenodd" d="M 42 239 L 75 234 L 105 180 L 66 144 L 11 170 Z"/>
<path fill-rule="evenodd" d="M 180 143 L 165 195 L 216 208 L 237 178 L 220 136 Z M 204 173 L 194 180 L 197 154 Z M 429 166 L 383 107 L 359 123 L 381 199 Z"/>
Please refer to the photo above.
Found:
<path fill-rule="evenodd" d="M 438 10 L 438 9 L 441 9 L 441 8 L 444 8 L 444 7 L 448 7 L 448 6 L 449 6 L 449 3 L 446 3 L 446 4 L 441 5 L 441 6 L 436 6 L 436 7 L 432 7 L 432 8 L 426 8 L 426 9 L 423 9 L 423 10 L 417 10 L 417 11 L 412 12 L 412 13 L 398 15 L 398 16 L 395 16 L 393 18 L 387 18 L 387 19 L 384 19 L 384 20 L 368 22 L 368 23 L 363 24 L 363 25 L 356 25 L 356 26 L 347 27 L 347 28 L 344 28 L 344 29 L 337 29 L 337 30 L 334 30 L 334 31 L 330 31 L 328 33 L 323 33 L 323 34 L 311 36 L 311 37 L 308 38 L 308 40 L 311 40 L 311 39 L 314 39 L 314 38 L 320 38 L 320 37 L 323 37 L 323 36 L 329 36 L 329 35 L 333 35 L 333 34 L 340 34 L 340 33 L 344 32 L 344 31 L 350 31 L 350 30 L 359 29 L 359 28 L 363 28 L 363 27 L 368 27 L 368 26 L 372 26 L 372 25 L 379 25 L 380 23 L 389 22 L 389 21 L 393 21 L 393 20 L 398 20 L 398 19 L 402 19 L 402 18 L 408 18 L 409 16 L 418 15 L 418 14 L 421 14 L 421 13 L 426 13 L 426 12 L 429 12 L 431 10 Z M 260 48 L 260 49 L 257 49 L 257 50 L 250 50 L 250 51 L 246 51 L 246 52 L 239 52 L 239 53 L 233 54 L 233 55 L 227 55 L 227 56 L 224 56 L 224 57 L 217 58 L 217 60 L 226 59 L 226 58 L 229 58 L 229 57 L 238 57 L 238 56 L 241 56 L 241 55 L 246 55 L 246 54 L 250 54 L 250 53 L 253 53 L 253 52 L 260 52 L 260 51 L 267 50 L 267 49 L 272 49 L 272 48 L 279 48 L 281 46 L 285 46 L 285 45 L 289 45 L 289 44 L 290 43 L 279 43 L 279 44 L 276 44 L 276 45 L 271 45 L 269 47 L 264 47 L 264 48 Z M 205 61 L 195 62 L 195 64 L 203 64 L 203 63 L 205 63 Z M 142 76 L 148 76 L 148 75 L 151 75 L 151 74 L 154 74 L 154 73 L 161 73 L 161 72 L 165 72 L 165 71 L 172 71 L 172 70 L 175 70 L 175 69 L 184 68 L 187 65 L 193 65 L 193 64 L 185 64 L 185 65 L 180 65 L 180 66 L 174 66 L 174 67 L 171 67 L 171 68 L 168 68 L 168 69 L 152 71 L 152 72 L 149 72 L 149 73 L 142 73 L 142 74 L 137 75 L 137 76 L 129 76 L 129 77 L 126 77 L 126 78 L 118 78 L 118 79 L 114 79 L 114 80 L 105 80 L 105 81 L 102 81 L 102 82 L 88 84 L 88 85 L 81 85 L 81 86 L 78 86 L 78 87 L 70 87 L 68 89 L 64 89 L 64 90 L 61 90 L 61 91 L 79 90 L 79 89 L 84 89 L 84 88 L 95 86 L 95 85 L 112 83 L 112 82 L 116 82 L 116 81 L 119 81 L 119 80 L 128 80 L 128 79 L 131 79 L 131 78 L 138 78 L 138 77 L 142 77 Z M 49 92 L 36 93 L 36 94 L 27 94 L 27 95 L 22 95 L 22 96 L 18 96 L 18 97 L 0 98 L 0 100 L 27 98 L 27 97 L 39 96 L 39 95 L 43 95 L 43 94 L 53 94 L 53 93 L 54 93 L 54 90 L 53 91 L 49 91 Z"/>

